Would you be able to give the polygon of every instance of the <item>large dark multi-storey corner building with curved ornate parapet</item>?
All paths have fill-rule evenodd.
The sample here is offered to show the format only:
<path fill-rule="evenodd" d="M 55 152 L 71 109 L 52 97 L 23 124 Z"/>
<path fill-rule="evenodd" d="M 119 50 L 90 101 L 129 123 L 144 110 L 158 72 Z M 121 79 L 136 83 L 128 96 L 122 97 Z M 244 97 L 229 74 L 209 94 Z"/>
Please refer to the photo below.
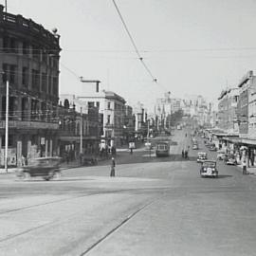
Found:
<path fill-rule="evenodd" d="M 60 36 L 0 5 L 0 165 L 9 82 L 9 165 L 57 155 Z"/>

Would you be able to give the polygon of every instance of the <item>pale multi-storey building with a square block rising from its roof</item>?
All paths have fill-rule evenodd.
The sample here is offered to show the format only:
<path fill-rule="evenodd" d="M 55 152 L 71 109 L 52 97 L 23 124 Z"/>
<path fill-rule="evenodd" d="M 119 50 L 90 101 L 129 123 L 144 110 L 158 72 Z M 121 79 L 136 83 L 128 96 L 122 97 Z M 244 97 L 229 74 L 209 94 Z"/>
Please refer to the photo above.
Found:
<path fill-rule="evenodd" d="M 123 140 L 126 101 L 115 92 L 101 90 L 99 81 L 88 82 L 86 95 L 78 97 L 78 100 L 86 102 L 88 107 L 99 108 L 103 119 L 102 138 L 110 146 L 119 145 Z"/>

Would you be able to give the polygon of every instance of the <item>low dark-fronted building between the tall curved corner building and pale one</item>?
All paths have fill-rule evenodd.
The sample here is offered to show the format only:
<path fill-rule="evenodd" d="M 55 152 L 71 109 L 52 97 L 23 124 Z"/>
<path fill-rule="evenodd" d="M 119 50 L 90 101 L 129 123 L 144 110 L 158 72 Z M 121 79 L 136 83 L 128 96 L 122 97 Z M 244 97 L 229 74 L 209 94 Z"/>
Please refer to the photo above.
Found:
<path fill-rule="evenodd" d="M 81 151 L 81 140 L 83 154 L 97 153 L 101 138 L 98 107 L 88 106 L 75 95 L 63 94 L 60 95 L 59 119 L 61 156 L 71 151 L 77 157 Z"/>

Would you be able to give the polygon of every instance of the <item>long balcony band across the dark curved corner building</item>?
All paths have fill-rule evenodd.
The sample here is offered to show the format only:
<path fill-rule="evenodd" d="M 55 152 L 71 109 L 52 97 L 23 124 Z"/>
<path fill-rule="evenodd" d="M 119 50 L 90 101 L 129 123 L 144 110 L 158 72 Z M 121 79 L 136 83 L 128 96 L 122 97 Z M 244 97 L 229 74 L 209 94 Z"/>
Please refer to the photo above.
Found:
<path fill-rule="evenodd" d="M 5 129 L 5 128 L 6 128 L 6 121 L 0 120 L 0 129 Z M 9 129 L 58 130 L 59 124 L 57 122 L 9 120 Z"/>

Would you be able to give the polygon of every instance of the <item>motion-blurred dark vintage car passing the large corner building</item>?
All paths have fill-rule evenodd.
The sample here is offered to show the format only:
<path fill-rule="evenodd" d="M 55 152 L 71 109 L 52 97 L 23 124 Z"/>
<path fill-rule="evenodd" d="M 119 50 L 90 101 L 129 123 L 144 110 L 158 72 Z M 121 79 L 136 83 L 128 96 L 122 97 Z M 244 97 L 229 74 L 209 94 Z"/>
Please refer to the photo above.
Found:
<path fill-rule="evenodd" d="M 59 178 L 61 171 L 59 168 L 61 157 L 38 157 L 30 161 L 27 166 L 16 171 L 16 175 L 23 179 L 30 177 L 43 177 L 45 180 Z"/>

